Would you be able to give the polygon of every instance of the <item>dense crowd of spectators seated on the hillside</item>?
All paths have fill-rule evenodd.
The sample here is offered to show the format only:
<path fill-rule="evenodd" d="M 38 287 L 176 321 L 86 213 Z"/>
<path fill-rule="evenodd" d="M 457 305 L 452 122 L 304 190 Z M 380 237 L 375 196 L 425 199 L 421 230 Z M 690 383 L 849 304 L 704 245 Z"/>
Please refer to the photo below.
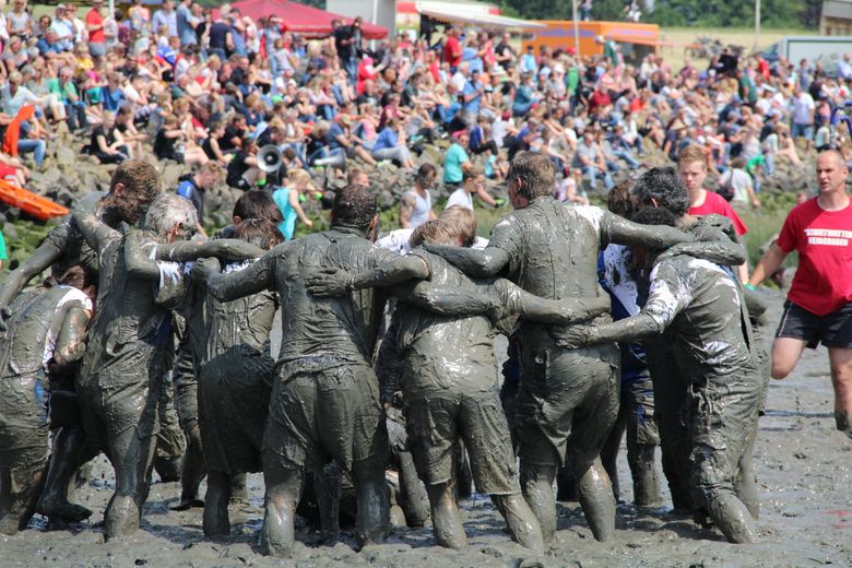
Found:
<path fill-rule="evenodd" d="M 49 167 L 62 123 L 100 163 L 153 153 L 211 164 L 240 189 L 286 184 L 285 171 L 318 161 L 413 170 L 427 145 L 451 138 L 463 142 L 464 168 L 478 163 L 498 180 L 519 150 L 541 150 L 559 194 L 582 200 L 583 189 L 608 190 L 616 173 L 642 167 L 649 146 L 676 159 L 698 144 L 711 170 L 732 170 L 723 181 L 733 199 L 757 205 L 779 159 L 797 165 L 803 151 L 832 143 L 829 117 L 852 90 L 852 54 L 839 76 L 807 60 L 727 51 L 708 69 L 676 68 L 655 55 L 630 64 L 610 37 L 596 38 L 603 56 L 578 57 L 470 28 L 448 27 L 434 44 L 404 34 L 368 43 L 360 24 L 335 22 L 329 37 L 307 40 L 275 14 L 253 21 L 193 0 L 137 0 L 115 14 L 102 0 L 87 11 L 66 3 L 39 17 L 15 0 L 0 15 L 0 174 L 26 185 L 21 154 Z M 257 167 L 267 144 L 284 162 L 270 180 Z M 450 165 L 443 181 L 461 174 Z"/>

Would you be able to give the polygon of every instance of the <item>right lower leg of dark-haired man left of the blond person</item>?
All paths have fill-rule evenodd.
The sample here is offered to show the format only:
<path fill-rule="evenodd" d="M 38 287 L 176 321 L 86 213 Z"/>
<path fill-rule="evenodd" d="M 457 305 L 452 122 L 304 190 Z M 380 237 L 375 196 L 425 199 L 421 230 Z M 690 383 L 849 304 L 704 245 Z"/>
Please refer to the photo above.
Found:
<path fill-rule="evenodd" d="M 356 462 L 352 482 L 358 499 L 355 529 L 363 544 L 382 543 L 388 539 L 390 501 L 384 485 L 384 464 L 380 459 Z"/>

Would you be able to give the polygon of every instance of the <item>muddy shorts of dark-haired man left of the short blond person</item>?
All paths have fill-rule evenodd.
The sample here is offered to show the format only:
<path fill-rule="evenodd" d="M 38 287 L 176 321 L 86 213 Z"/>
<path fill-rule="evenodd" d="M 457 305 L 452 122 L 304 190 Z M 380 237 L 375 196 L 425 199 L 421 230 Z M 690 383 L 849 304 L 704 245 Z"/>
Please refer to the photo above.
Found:
<path fill-rule="evenodd" d="M 388 430 L 379 384 L 367 364 L 303 357 L 280 369 L 263 435 L 263 468 L 322 468 L 330 458 L 384 463 Z"/>

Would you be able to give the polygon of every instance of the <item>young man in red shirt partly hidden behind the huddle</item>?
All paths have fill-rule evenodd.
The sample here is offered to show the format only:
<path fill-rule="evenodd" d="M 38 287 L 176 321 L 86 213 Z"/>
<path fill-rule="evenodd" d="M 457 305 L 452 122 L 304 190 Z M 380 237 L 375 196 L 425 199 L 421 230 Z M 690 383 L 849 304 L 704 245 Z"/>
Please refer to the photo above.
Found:
<path fill-rule="evenodd" d="M 689 194 L 689 210 L 687 211 L 689 215 L 722 215 L 734 224 L 737 236 L 742 237 L 748 233 L 748 227 L 745 226 L 731 204 L 719 193 L 705 189 L 707 154 L 705 154 L 703 147 L 695 144 L 685 147 L 677 158 L 677 173 L 684 180 L 686 191 Z M 747 263 L 737 267 L 737 276 L 742 282 L 748 280 Z"/>

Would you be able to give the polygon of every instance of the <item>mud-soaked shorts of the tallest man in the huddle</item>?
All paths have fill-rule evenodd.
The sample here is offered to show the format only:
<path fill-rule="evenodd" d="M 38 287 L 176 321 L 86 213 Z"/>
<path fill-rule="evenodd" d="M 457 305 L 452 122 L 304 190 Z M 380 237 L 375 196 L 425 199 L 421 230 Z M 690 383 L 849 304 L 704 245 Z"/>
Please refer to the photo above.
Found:
<path fill-rule="evenodd" d="M 521 462 L 576 466 L 600 454 L 618 415 L 620 384 L 614 344 L 566 350 L 521 340 L 516 439 Z"/>

